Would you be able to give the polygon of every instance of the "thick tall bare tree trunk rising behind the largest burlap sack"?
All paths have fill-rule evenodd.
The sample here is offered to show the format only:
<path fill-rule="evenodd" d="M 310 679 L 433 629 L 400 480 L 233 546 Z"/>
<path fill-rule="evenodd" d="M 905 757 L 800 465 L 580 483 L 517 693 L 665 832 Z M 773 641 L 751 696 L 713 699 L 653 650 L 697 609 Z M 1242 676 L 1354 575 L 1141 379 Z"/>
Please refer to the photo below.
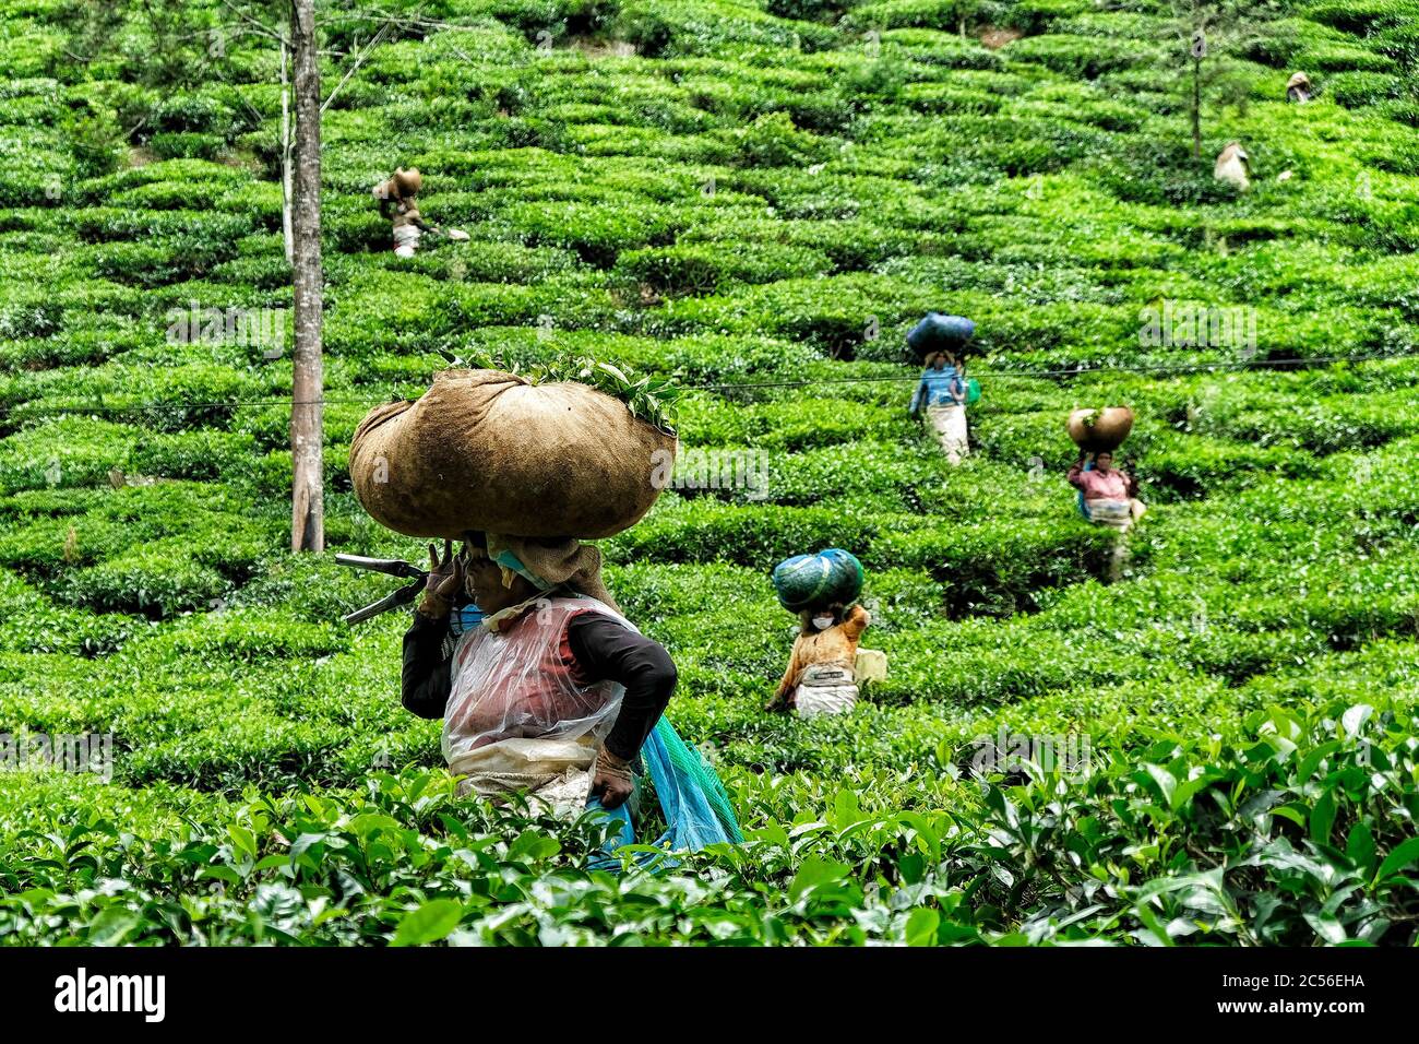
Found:
<path fill-rule="evenodd" d="M 291 550 L 325 547 L 321 479 L 324 425 L 321 374 L 321 65 L 315 0 L 292 0 L 295 54 L 295 368 L 291 382 Z"/>

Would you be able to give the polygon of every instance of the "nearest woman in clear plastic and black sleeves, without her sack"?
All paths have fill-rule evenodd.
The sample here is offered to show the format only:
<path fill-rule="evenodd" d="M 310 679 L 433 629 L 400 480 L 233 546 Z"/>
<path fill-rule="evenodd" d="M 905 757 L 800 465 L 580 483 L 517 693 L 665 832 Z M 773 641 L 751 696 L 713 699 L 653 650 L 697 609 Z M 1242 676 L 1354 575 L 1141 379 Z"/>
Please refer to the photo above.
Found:
<path fill-rule="evenodd" d="M 404 635 L 403 705 L 444 719 L 444 757 L 464 793 L 525 790 L 558 811 L 579 811 L 589 794 L 629 844 L 624 805 L 644 751 L 675 847 L 738 839 L 714 771 L 663 717 L 675 665 L 619 612 L 600 561 L 576 540 L 470 533 L 457 555 L 447 541 L 441 558 L 430 547 Z M 460 595 L 481 619 L 450 643 Z"/>

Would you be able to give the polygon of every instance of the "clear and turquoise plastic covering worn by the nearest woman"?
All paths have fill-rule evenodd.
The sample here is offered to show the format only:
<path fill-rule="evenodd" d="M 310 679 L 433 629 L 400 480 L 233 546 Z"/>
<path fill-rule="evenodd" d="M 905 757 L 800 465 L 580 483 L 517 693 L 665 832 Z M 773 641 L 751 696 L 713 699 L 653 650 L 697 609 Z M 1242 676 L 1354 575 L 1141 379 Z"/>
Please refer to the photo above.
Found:
<path fill-rule="evenodd" d="M 443 753 L 450 771 L 467 777 L 470 790 L 485 797 L 512 790 L 576 794 L 580 804 L 599 807 L 586 801 L 586 788 L 624 690 L 614 682 L 587 683 L 578 676 L 566 628 L 583 612 L 636 629 L 595 598 L 542 595 L 488 616 L 460 638 Z M 641 757 L 667 824 L 657 847 L 695 851 L 744 839 L 719 778 L 664 717 L 646 739 Z M 619 821 L 607 849 L 630 844 L 624 805 L 606 814 Z"/>

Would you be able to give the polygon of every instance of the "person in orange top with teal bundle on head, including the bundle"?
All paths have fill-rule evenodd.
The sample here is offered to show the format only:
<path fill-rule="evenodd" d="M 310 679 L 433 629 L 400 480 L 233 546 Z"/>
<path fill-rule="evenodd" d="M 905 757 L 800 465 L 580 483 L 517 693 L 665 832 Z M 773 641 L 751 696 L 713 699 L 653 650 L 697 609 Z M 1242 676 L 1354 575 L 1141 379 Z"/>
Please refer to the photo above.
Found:
<path fill-rule="evenodd" d="M 800 717 L 841 714 L 857 703 L 857 643 L 871 622 L 854 604 L 863 589 L 863 565 L 840 548 L 795 555 L 773 570 L 779 605 L 799 615 L 788 670 L 765 710 L 795 710 Z"/>

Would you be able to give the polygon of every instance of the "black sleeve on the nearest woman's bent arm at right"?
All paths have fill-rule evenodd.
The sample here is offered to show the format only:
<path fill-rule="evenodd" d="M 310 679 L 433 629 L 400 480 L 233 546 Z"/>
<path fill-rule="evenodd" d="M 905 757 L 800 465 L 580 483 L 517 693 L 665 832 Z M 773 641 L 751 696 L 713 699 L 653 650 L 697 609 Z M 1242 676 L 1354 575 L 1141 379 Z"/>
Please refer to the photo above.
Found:
<path fill-rule="evenodd" d="M 626 761 L 634 760 L 675 690 L 674 660 L 658 642 L 590 612 L 572 619 L 566 638 L 586 678 L 626 686 L 606 749 Z"/>

